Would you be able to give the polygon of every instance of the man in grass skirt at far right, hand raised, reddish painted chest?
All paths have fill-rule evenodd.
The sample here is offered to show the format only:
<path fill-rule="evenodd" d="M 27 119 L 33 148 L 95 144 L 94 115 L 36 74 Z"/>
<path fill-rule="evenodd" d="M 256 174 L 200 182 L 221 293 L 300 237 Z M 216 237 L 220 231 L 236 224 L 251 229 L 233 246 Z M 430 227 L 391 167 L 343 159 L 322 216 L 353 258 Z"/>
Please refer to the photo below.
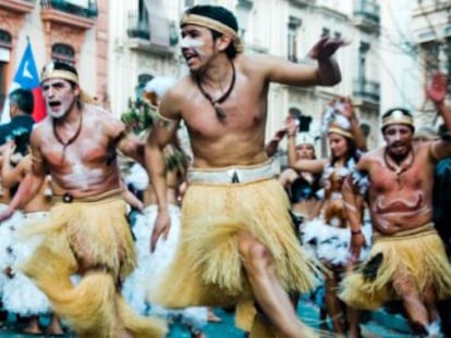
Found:
<path fill-rule="evenodd" d="M 437 73 L 427 96 L 450 128 L 447 88 L 446 77 Z M 451 155 L 451 140 L 444 136 L 413 142 L 413 118 L 404 109 L 383 114 L 382 134 L 386 146 L 357 163 L 357 170 L 369 178 L 366 196 L 374 229 L 373 249 L 368 261 L 343 280 L 340 297 L 366 310 L 400 299 L 417 334 L 437 337 L 437 301 L 451 296 L 451 266 L 432 223 L 434 168 L 438 160 Z M 354 258 L 365 241 L 356 212 L 362 188 L 358 181 L 365 181 L 361 178 L 356 174 L 349 179 L 343 192 Z"/>

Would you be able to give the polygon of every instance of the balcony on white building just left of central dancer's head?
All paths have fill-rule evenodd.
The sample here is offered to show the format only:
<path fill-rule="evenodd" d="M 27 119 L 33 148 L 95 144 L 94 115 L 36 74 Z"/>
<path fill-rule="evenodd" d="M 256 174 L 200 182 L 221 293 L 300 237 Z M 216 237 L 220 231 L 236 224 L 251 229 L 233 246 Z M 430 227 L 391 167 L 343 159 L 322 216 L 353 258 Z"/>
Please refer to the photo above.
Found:
<path fill-rule="evenodd" d="M 131 49 L 160 55 L 172 55 L 179 41 L 174 22 L 153 14 L 130 12 L 126 34 Z"/>

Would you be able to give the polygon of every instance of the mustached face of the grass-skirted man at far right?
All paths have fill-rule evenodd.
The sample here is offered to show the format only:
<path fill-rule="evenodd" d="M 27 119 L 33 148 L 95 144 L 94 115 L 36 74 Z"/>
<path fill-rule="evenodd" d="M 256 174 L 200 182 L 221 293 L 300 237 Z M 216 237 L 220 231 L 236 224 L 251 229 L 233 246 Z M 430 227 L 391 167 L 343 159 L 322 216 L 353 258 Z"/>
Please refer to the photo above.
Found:
<path fill-rule="evenodd" d="M 393 157 L 404 157 L 412 148 L 412 128 L 404 124 L 392 124 L 385 128 L 387 151 Z"/>

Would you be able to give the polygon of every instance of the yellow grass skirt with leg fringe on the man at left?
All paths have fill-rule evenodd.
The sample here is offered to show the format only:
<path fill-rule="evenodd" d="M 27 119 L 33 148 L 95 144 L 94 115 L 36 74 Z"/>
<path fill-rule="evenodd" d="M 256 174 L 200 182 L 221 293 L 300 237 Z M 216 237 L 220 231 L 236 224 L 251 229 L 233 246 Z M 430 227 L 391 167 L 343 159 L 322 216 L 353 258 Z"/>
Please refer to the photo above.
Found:
<path fill-rule="evenodd" d="M 117 196 L 96 202 L 57 203 L 49 221 L 24 229 L 44 240 L 23 272 L 35 279 L 56 313 L 80 337 L 162 337 L 166 326 L 137 316 L 124 302 L 119 285 L 135 266 L 134 242 Z M 74 286 L 70 276 L 81 274 Z"/>

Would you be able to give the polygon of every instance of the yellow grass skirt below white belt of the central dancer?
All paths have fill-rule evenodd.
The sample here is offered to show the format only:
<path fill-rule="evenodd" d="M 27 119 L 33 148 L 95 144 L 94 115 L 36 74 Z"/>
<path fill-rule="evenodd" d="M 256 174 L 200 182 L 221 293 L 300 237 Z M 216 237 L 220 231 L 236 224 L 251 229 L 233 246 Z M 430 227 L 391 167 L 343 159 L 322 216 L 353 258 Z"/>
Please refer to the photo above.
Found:
<path fill-rule="evenodd" d="M 295 237 L 289 209 L 287 193 L 275 179 L 193 183 L 183 201 L 175 260 L 159 287 L 149 291 L 150 300 L 167 308 L 237 304 L 236 325 L 251 331 L 256 309 L 239 252 L 240 233 L 269 250 L 287 291 L 308 292 L 318 281 L 315 264 Z"/>

